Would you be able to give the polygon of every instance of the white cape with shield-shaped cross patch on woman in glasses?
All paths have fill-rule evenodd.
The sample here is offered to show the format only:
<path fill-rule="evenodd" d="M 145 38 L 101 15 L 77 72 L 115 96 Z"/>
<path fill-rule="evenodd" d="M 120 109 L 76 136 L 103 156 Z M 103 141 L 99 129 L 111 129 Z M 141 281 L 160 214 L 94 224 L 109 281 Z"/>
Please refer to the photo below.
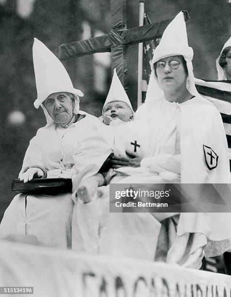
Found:
<path fill-rule="evenodd" d="M 165 121 L 161 117 L 156 117 L 161 110 L 163 112 L 162 100 L 143 104 L 138 110 L 137 117 L 147 118 L 152 127 L 155 125 L 162 127 Z M 166 102 L 164 104 L 166 105 Z M 227 140 L 221 116 L 215 106 L 201 96 L 196 96 L 179 106 L 181 183 L 231 183 Z M 154 147 L 157 145 L 154 144 Z M 211 147 L 219 156 L 216 168 L 209 170 L 206 165 L 203 145 Z M 227 228 L 230 224 L 230 213 L 182 213 L 177 234 L 182 235 L 186 232 L 205 234 L 209 239 L 205 256 L 211 257 L 231 248 L 231 230 Z"/>

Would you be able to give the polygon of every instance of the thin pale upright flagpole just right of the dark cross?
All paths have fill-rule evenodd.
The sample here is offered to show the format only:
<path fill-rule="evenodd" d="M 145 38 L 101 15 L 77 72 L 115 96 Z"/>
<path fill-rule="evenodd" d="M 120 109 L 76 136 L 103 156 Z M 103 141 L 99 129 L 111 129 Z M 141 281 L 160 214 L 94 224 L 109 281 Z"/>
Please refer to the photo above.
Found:
<path fill-rule="evenodd" d="M 144 0 L 139 1 L 139 26 L 143 26 Z M 138 51 L 138 98 L 137 107 L 142 103 L 142 71 L 143 71 L 143 43 L 139 43 Z"/>

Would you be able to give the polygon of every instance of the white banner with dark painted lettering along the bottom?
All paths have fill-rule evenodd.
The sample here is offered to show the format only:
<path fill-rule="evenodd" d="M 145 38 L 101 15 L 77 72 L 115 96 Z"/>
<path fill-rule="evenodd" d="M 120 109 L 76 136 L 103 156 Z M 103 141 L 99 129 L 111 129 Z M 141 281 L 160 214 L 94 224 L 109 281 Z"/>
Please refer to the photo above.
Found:
<path fill-rule="evenodd" d="M 33 286 L 36 297 L 230 297 L 231 277 L 1 241 L 0 286 Z"/>

